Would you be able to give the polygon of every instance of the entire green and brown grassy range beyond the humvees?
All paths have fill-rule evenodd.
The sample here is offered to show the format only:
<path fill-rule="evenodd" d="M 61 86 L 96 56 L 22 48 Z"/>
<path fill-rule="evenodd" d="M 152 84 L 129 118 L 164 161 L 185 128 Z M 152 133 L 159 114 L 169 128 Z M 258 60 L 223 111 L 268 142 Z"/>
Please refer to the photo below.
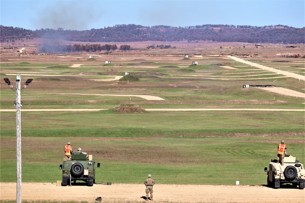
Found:
<path fill-rule="evenodd" d="M 15 75 L 8 74 L 19 71 L 21 75 L 32 74 L 22 75 L 22 81 L 33 78 L 21 91 L 22 109 L 109 109 L 21 112 L 22 181 L 61 180 L 59 164 L 68 141 L 74 149 L 81 147 L 94 154 L 95 161 L 101 163 L 96 172 L 97 183 L 142 183 L 142 178 L 151 173 L 161 184 L 235 184 L 238 180 L 240 184 L 263 185 L 267 184 L 264 166 L 276 158 L 282 139 L 287 143 L 288 154 L 304 163 L 304 111 L 234 110 L 302 110 L 304 98 L 242 85 L 275 85 L 304 92 L 304 81 L 278 78 L 282 75 L 219 57 L 154 57 L 162 60 L 113 59 L 111 67 L 105 67 L 102 60 L 1 63 L 1 109 L 15 109 L 16 93 L 3 78 L 14 81 Z M 190 66 L 194 60 L 199 65 Z M 294 68 L 304 74 L 304 62 L 300 63 Z M 72 68 L 73 64 L 83 65 Z M 278 65 L 271 61 L 262 64 Z M 140 80 L 129 84 L 102 81 L 125 72 Z M 165 100 L 103 94 L 152 95 Z M 232 110 L 114 112 L 113 108 L 119 105 Z M 0 118 L 0 181 L 15 182 L 16 113 L 1 112 Z"/>

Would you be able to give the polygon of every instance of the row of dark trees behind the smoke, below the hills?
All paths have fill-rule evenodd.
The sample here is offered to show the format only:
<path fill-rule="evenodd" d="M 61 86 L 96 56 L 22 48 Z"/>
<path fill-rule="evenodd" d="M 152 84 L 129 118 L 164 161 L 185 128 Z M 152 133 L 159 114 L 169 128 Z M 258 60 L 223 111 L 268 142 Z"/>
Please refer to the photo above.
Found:
<path fill-rule="evenodd" d="M 40 53 L 70 53 L 70 52 L 96 52 L 96 51 L 111 51 L 116 50 L 116 44 L 74 44 L 74 45 L 54 45 L 40 44 Z M 120 50 L 130 50 L 130 45 L 124 44 L 120 46 Z"/>

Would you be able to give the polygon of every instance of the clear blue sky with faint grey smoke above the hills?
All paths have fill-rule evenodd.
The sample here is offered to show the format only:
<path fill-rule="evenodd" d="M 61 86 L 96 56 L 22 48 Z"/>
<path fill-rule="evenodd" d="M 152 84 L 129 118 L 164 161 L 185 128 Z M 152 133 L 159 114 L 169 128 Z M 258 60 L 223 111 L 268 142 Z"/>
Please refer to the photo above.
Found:
<path fill-rule="evenodd" d="M 116 24 L 305 25 L 304 0 L 1 0 L 3 26 L 90 30 Z"/>

